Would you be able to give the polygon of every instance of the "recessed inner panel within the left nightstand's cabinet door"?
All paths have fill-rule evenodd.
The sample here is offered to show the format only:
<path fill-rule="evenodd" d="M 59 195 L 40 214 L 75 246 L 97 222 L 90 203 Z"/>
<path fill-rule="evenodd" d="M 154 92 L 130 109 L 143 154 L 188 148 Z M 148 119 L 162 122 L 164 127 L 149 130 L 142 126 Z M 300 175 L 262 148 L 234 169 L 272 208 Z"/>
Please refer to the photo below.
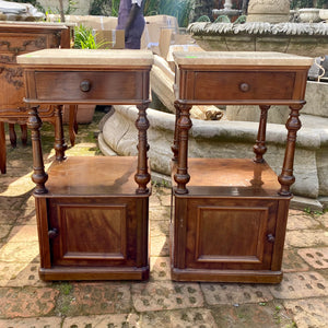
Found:
<path fill-rule="evenodd" d="M 60 257 L 126 259 L 126 206 L 59 206 Z"/>

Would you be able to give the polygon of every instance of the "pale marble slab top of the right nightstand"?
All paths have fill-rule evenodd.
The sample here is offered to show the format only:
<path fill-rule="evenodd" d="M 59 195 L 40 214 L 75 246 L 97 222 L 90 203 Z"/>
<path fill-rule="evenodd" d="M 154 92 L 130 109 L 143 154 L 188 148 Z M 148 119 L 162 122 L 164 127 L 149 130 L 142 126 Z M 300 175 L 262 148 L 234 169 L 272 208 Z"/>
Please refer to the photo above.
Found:
<path fill-rule="evenodd" d="M 314 58 L 265 51 L 173 52 L 177 65 L 222 66 L 312 66 Z"/>

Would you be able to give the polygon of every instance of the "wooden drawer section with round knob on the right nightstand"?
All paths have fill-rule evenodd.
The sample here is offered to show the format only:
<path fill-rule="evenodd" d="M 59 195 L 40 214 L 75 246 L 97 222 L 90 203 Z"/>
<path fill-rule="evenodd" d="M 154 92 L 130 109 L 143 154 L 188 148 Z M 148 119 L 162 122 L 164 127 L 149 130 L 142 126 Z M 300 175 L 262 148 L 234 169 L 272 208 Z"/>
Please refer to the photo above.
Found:
<path fill-rule="evenodd" d="M 300 70 L 176 71 L 176 97 L 190 104 L 288 104 L 304 98 L 307 73 Z"/>

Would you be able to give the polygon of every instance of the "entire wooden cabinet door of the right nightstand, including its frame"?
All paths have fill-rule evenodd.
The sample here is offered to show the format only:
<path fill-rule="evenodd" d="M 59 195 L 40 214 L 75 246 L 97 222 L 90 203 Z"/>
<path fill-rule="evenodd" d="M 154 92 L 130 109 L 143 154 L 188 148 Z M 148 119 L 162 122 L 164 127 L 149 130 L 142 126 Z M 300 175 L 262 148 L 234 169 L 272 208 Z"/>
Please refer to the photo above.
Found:
<path fill-rule="evenodd" d="M 186 267 L 270 269 L 276 201 L 190 200 L 188 204 Z"/>

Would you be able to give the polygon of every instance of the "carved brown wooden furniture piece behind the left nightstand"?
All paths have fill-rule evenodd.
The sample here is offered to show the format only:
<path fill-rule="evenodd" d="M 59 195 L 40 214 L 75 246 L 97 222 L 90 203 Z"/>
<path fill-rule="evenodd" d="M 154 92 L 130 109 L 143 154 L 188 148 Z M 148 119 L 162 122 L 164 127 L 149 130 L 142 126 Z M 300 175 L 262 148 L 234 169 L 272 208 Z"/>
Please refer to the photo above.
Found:
<path fill-rule="evenodd" d="M 3 122 L 9 124 L 10 141 L 16 145 L 14 125 L 22 129 L 22 142 L 27 141 L 27 108 L 23 102 L 25 95 L 23 70 L 16 63 L 16 56 L 44 49 L 69 48 L 70 32 L 63 24 L 35 22 L 0 22 L 0 168 L 5 173 L 5 136 Z M 74 112 L 70 121 L 71 142 L 74 143 Z M 51 107 L 39 110 L 44 120 L 55 122 Z"/>

